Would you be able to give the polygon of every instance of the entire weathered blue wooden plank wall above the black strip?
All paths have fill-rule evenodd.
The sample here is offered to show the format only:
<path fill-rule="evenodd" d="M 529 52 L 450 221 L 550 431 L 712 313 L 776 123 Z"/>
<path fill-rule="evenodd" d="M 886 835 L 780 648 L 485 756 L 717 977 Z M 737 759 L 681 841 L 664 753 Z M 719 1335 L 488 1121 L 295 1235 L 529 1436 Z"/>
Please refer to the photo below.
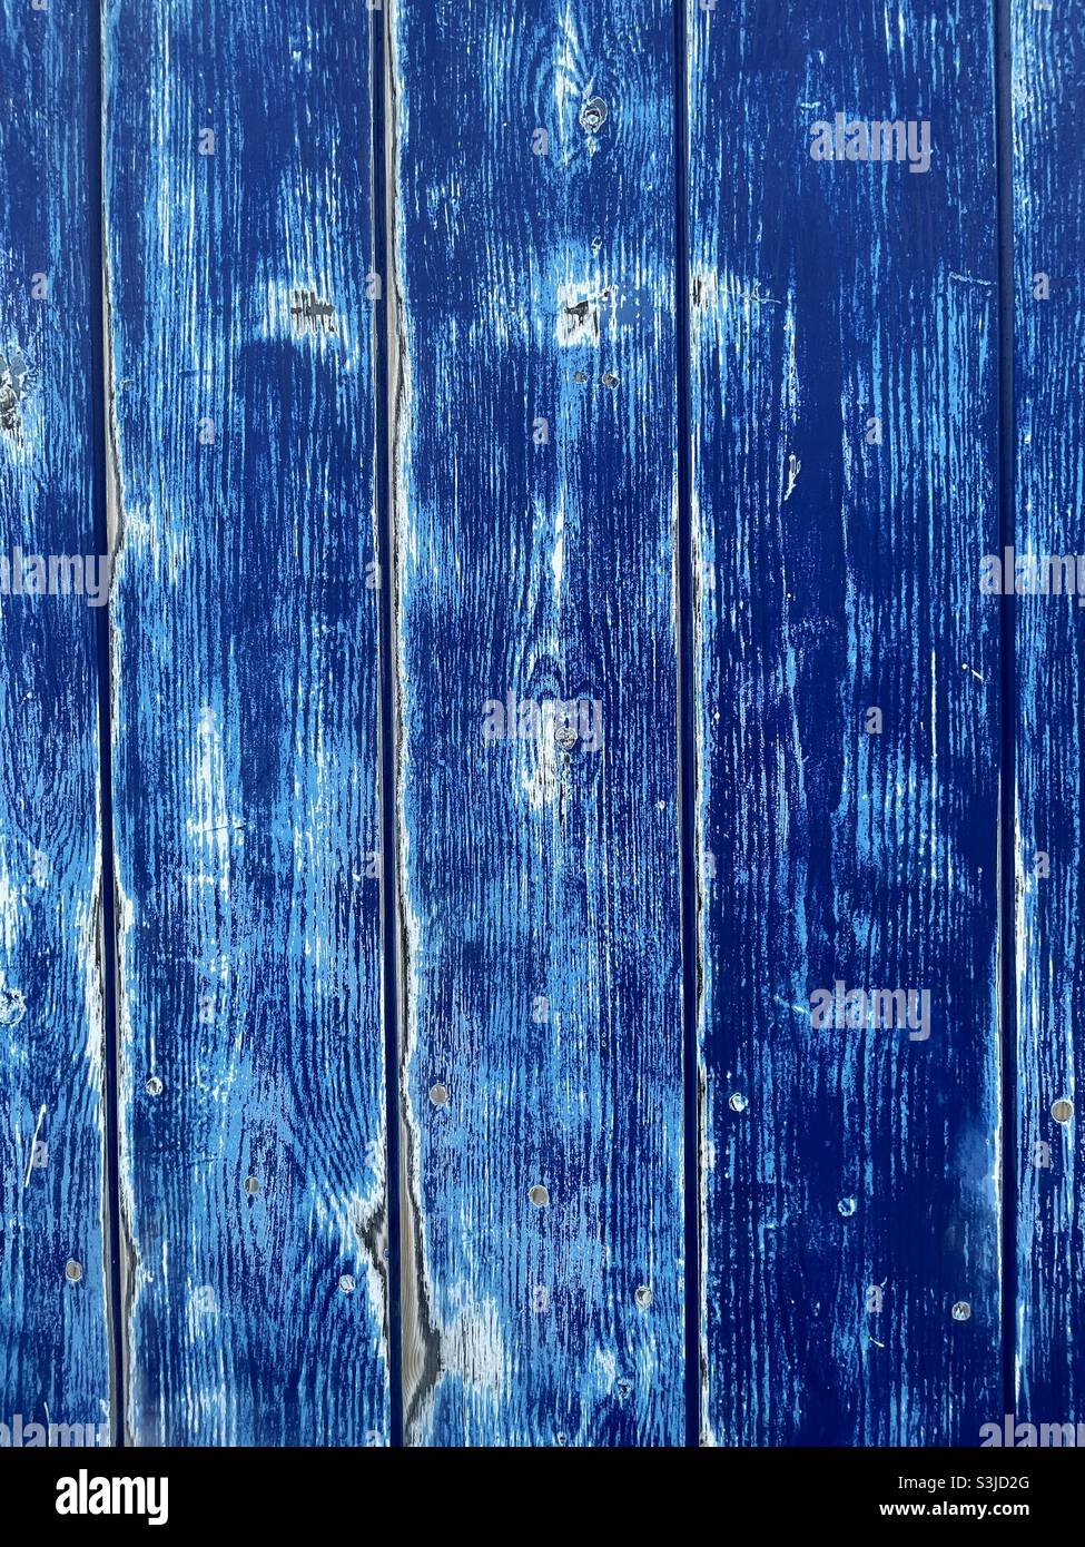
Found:
<path fill-rule="evenodd" d="M 1079 597 L 983 562 L 1082 549 L 1085 11 L 1008 8 L 1000 484 L 998 8 L 686 6 L 683 60 L 669 0 L 105 0 L 104 362 L 98 12 L 0 0 L 23 1443 L 387 1443 L 399 1400 L 410 1445 L 681 1443 L 690 1383 L 709 1445 L 1082 1417 Z M 930 139 L 837 159 L 837 113 Z M 108 676 L 87 596 L 12 583 L 107 545 Z M 837 984 L 929 999 L 816 1024 Z"/>

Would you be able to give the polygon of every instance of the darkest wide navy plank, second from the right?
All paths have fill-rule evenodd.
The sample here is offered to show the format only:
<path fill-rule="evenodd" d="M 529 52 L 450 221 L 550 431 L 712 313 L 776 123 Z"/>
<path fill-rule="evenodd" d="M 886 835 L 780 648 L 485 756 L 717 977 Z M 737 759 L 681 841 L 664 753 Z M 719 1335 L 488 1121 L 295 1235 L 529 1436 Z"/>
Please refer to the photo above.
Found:
<path fill-rule="evenodd" d="M 706 1443 L 1001 1411 L 992 20 L 689 6 Z M 813 159 L 836 113 L 929 170 Z"/>

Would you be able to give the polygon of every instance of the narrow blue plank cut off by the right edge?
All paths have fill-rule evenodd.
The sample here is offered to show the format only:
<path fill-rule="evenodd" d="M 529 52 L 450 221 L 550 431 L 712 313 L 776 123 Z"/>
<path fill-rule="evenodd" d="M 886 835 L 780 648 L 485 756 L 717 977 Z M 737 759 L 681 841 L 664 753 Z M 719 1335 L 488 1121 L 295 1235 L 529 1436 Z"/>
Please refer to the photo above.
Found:
<path fill-rule="evenodd" d="M 1012 6 L 1017 456 L 1015 1414 L 1085 1422 L 1085 560 L 1074 594 L 1026 560 L 1085 554 L 1085 8 Z M 1045 283 L 1046 277 L 1046 283 Z M 1022 565 L 1017 569 L 1017 565 Z M 1039 579 L 1039 569 L 1037 569 Z M 1056 1103 L 1077 1115 L 1059 1122 Z M 1074 1338 L 1077 1334 L 1077 1340 Z"/>

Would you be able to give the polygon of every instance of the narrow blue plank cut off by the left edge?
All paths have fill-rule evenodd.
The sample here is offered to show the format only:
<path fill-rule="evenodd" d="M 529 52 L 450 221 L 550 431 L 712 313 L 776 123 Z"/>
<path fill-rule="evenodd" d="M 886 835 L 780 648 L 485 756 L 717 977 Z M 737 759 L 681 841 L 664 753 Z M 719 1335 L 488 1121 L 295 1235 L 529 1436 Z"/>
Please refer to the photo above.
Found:
<path fill-rule="evenodd" d="M 0 1440 L 105 1423 L 93 155 L 82 8 L 0 5 Z M 101 464 L 99 464 L 101 466 Z M 45 560 L 46 594 L 36 585 Z M 68 591 L 62 586 L 67 577 Z M 65 1272 L 67 1264 L 73 1267 Z M 56 1440 L 54 1440 L 56 1443 Z"/>

